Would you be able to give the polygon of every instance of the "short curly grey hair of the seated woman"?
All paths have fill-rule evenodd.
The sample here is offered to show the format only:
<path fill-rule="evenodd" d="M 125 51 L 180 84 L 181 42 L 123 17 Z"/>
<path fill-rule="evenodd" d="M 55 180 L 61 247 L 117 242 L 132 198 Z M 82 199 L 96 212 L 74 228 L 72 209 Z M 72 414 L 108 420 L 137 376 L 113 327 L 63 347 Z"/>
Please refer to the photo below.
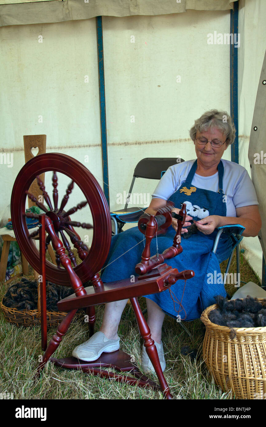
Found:
<path fill-rule="evenodd" d="M 236 129 L 231 116 L 226 111 L 206 111 L 199 119 L 195 120 L 194 126 L 190 129 L 190 138 L 195 141 L 197 131 L 204 132 L 210 128 L 219 129 L 226 136 L 227 145 L 234 142 Z"/>

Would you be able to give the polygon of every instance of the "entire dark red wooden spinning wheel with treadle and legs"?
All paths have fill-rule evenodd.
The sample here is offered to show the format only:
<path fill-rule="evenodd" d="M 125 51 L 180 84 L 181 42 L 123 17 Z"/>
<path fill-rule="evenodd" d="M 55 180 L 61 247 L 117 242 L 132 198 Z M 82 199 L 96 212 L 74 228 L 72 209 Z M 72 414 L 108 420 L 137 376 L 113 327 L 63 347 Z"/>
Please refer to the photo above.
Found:
<path fill-rule="evenodd" d="M 52 172 L 52 180 L 50 182 L 53 186 L 53 204 L 39 177 L 42 173 L 47 173 L 49 171 Z M 58 174 L 66 175 L 71 180 L 61 203 L 59 202 L 60 205 L 58 203 Z M 45 200 L 48 208 L 41 201 L 37 200 L 35 196 L 29 193 L 29 187 L 36 178 L 41 190 L 41 196 Z M 79 190 L 81 190 L 84 196 L 84 201 L 81 200 L 76 206 L 70 208 L 68 200 L 74 186 L 79 187 Z M 43 214 L 36 215 L 34 213 L 25 212 L 27 196 L 35 202 L 43 211 Z M 86 205 L 91 209 L 93 225 L 85 222 L 71 221 L 70 215 L 84 208 Z M 171 224 L 171 210 L 172 207 L 169 207 L 165 211 L 158 212 L 156 217 L 151 215 L 149 218 L 146 218 L 146 216 L 140 218 L 139 226 L 141 225 L 140 230 L 145 233 L 146 244 L 142 253 L 141 262 L 136 266 L 136 272 L 140 274 L 137 281 L 132 283 L 131 279 L 127 278 L 103 284 L 98 273 L 105 263 L 111 245 L 111 216 L 105 196 L 94 176 L 75 159 L 57 153 L 38 155 L 36 158 L 27 162 L 20 170 L 12 190 L 11 216 L 20 249 L 32 267 L 41 274 L 42 348 L 45 352 L 39 364 L 38 372 L 44 368 L 47 361 L 56 351 L 56 348 L 58 348 L 62 337 L 67 332 L 73 316 L 79 307 L 87 307 L 92 331 L 95 320 L 94 305 L 130 298 L 138 328 L 144 340 L 144 346 L 146 347 L 147 354 L 158 376 L 161 390 L 166 398 L 172 398 L 169 386 L 167 385 L 161 369 L 154 340 L 151 338 L 151 332 L 137 301 L 138 296 L 164 292 L 178 279 L 189 279 L 194 275 L 194 272 L 191 270 L 178 272 L 177 269 L 172 269 L 172 267 L 164 263 L 164 260 L 172 258 L 182 252 L 180 235 L 186 216 L 184 204 L 182 205 L 179 215 L 177 215 L 178 229 L 173 240 L 173 245 L 162 254 L 156 254 L 156 256 L 150 257 L 150 243 L 155 235 L 155 231 L 158 230 L 159 226 L 167 227 Z M 41 223 L 41 228 L 39 228 L 37 232 L 29 232 L 26 225 L 27 217 L 38 219 Z M 93 239 L 90 249 L 81 241 L 79 234 L 77 234 L 73 227 L 80 227 L 88 230 L 93 229 Z M 45 232 L 47 232 L 47 237 L 45 236 Z M 37 234 L 39 234 L 40 237 L 40 252 L 36 249 L 32 240 L 32 237 L 35 237 Z M 70 239 L 73 246 L 77 249 L 79 258 L 82 260 L 79 265 L 77 265 L 76 258 L 71 251 L 68 239 Z M 45 259 L 47 245 L 50 242 L 56 251 L 57 266 Z M 64 268 L 61 268 L 60 264 Z M 57 303 L 58 310 L 67 311 L 68 313 L 58 326 L 48 346 L 46 340 L 46 278 L 58 285 L 72 286 L 75 291 L 75 294 Z M 84 288 L 83 284 L 88 280 L 92 281 L 93 287 Z M 82 369 L 84 372 L 99 374 L 109 378 L 112 376 L 120 382 L 157 387 L 155 383 L 149 380 L 145 375 L 142 375 L 136 366 L 131 362 L 129 363 L 129 359 L 130 356 L 128 354 L 121 350 L 117 350 L 110 355 L 103 353 L 99 359 L 93 362 L 82 362 L 74 357 L 59 360 L 51 358 L 50 360 L 58 366 L 64 366 L 70 369 Z M 104 367 L 113 367 L 120 371 L 132 372 L 137 378 L 117 374 L 111 375 L 110 372 L 102 370 Z"/>

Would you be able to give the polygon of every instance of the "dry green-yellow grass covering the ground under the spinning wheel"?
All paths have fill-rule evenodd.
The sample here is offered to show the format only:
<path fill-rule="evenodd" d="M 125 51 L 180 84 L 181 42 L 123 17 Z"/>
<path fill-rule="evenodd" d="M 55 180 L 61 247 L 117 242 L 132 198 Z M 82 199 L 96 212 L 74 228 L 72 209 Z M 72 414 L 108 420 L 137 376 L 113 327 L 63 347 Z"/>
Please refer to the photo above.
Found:
<path fill-rule="evenodd" d="M 224 272 L 225 265 L 221 264 Z M 235 257 L 230 271 L 236 271 Z M 249 267 L 243 255 L 240 255 L 241 280 L 254 281 L 259 278 Z M 1 298 L 10 284 L 1 287 Z M 232 295 L 236 288 L 227 285 Z M 145 299 L 139 298 L 142 309 Z M 121 318 L 119 336 L 120 348 L 134 357 L 140 366 L 141 343 L 133 310 L 126 310 Z M 103 315 L 103 306 L 96 307 L 96 330 L 99 329 Z M 128 313 L 129 311 L 129 313 Z M 213 382 L 202 360 L 202 323 L 199 319 L 187 322 L 186 327 L 192 338 L 177 324 L 175 319 L 166 316 L 163 325 L 163 342 L 167 368 L 165 378 L 175 399 L 232 399 L 231 393 L 224 393 Z M 56 328 L 48 330 L 48 342 Z M 70 328 L 59 345 L 55 357 L 67 357 L 73 347 L 88 339 L 88 324 L 82 319 L 71 323 Z M 35 380 L 35 371 L 41 351 L 41 329 L 16 327 L 7 322 L 0 313 L 0 392 L 13 393 L 14 399 L 163 399 L 160 391 L 143 389 L 137 386 L 117 383 L 115 380 L 102 379 L 84 374 L 81 371 L 62 369 L 48 362 Z M 198 349 L 198 360 L 182 356 L 180 349 L 184 345 Z M 152 379 L 157 378 L 152 374 Z"/>

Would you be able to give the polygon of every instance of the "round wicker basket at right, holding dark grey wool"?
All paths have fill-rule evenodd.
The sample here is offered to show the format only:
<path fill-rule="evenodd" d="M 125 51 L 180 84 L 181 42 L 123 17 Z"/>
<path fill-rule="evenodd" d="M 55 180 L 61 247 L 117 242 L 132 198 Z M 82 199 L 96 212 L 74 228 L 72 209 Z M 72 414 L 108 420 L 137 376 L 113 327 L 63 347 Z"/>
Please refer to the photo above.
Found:
<path fill-rule="evenodd" d="M 266 305 L 265 299 L 259 301 Z M 214 382 L 238 399 L 266 398 L 266 327 L 234 328 L 219 326 L 208 318 L 217 304 L 206 308 L 201 320 L 206 326 L 203 357 Z"/>

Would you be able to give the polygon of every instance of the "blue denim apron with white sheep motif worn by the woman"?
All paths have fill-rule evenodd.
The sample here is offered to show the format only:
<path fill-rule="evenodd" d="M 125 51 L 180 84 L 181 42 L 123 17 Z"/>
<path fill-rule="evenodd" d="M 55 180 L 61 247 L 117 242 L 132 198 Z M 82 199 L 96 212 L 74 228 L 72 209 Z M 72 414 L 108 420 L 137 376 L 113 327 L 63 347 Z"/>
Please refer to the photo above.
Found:
<path fill-rule="evenodd" d="M 193 163 L 187 179 L 184 184 L 172 194 L 169 200 L 174 202 L 176 208 L 180 208 L 182 203 L 187 204 L 187 213 L 193 216 L 193 219 L 199 220 L 208 215 L 226 216 L 226 203 L 223 202 L 222 178 L 223 164 L 220 161 L 218 165 L 219 189 L 218 192 L 205 190 L 195 187 L 191 184 L 197 168 L 197 161 Z M 181 238 L 183 252 L 166 263 L 178 271 L 193 270 L 195 276 L 185 283 L 178 280 L 169 290 L 164 292 L 145 295 L 158 304 L 165 313 L 172 317 L 180 316 L 181 319 L 193 320 L 200 317 L 202 311 L 211 304 L 214 304 L 215 295 L 226 296 L 223 284 L 208 284 L 209 272 L 216 270 L 220 272 L 219 261 L 213 254 L 213 240 L 217 231 L 205 235 L 200 231 L 192 234 L 189 239 Z M 156 253 L 156 244 L 158 252 L 162 253 L 165 249 L 172 246 L 175 236 L 175 230 L 170 226 L 167 233 L 154 237 L 151 242 L 151 255 Z M 134 267 L 140 262 L 144 243 L 143 234 L 137 227 L 124 231 L 112 237 L 111 250 L 106 260 L 105 270 L 102 272 L 104 282 L 129 278 L 135 275 Z M 224 249 L 231 246 L 231 242 L 224 240 L 222 243 Z M 134 248 L 133 248 L 134 246 Z M 220 246 L 220 243 L 219 243 Z M 133 248 L 133 249 L 131 249 Z M 185 287 L 184 287 L 185 285 Z M 179 303 L 174 301 L 179 301 Z M 181 304 L 180 304 L 181 303 Z"/>

